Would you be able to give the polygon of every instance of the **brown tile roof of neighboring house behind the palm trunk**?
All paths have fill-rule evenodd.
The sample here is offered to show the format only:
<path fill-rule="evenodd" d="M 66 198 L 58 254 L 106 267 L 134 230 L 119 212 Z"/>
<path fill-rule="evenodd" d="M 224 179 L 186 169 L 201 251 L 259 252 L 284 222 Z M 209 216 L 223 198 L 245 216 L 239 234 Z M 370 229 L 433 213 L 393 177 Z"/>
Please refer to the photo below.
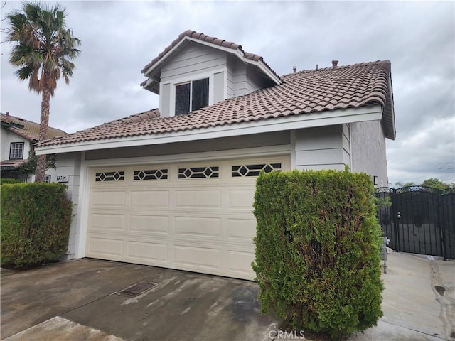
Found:
<path fill-rule="evenodd" d="M 20 117 L 14 117 L 10 114 L 0 113 L 0 121 L 2 125 L 7 126 L 7 129 L 22 136 L 29 141 L 38 141 L 40 136 L 40 124 Z M 58 136 L 66 135 L 65 131 L 48 127 L 48 139 L 53 139 Z"/>

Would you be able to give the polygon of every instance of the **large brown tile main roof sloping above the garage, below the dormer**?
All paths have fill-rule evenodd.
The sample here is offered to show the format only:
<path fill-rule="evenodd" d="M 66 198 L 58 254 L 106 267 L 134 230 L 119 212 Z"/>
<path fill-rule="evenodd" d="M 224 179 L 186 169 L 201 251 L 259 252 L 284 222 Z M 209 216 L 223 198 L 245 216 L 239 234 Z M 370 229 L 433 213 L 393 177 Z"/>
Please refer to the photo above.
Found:
<path fill-rule="evenodd" d="M 395 124 L 389 77 L 388 60 L 301 71 L 282 76 L 281 85 L 226 99 L 189 114 L 159 117 L 158 109 L 154 109 L 61 136 L 39 146 L 235 125 L 312 112 L 358 108 L 375 103 L 384 108 L 386 136 L 394 139 Z"/>

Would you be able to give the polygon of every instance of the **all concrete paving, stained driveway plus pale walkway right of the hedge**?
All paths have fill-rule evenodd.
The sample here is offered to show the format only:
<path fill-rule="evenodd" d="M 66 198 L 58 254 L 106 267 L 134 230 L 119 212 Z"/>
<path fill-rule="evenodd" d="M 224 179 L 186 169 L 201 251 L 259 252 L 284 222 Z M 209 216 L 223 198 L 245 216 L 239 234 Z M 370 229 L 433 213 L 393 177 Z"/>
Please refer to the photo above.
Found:
<path fill-rule="evenodd" d="M 392 253 L 387 264 L 384 316 L 348 340 L 455 340 L 455 261 Z M 1 339 L 303 338 L 280 335 L 277 318 L 259 315 L 257 289 L 250 281 L 94 259 L 2 269 Z"/>

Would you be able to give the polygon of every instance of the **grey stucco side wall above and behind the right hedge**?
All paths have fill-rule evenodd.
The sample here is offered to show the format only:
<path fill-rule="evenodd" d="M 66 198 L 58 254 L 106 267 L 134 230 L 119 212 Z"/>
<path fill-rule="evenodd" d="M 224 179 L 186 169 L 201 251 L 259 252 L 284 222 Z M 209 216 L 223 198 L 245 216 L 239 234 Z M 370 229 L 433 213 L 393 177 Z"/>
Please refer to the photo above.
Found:
<path fill-rule="evenodd" d="M 377 176 L 375 187 L 387 186 L 387 156 L 385 136 L 380 121 L 350 124 L 352 165 L 354 172 Z"/>

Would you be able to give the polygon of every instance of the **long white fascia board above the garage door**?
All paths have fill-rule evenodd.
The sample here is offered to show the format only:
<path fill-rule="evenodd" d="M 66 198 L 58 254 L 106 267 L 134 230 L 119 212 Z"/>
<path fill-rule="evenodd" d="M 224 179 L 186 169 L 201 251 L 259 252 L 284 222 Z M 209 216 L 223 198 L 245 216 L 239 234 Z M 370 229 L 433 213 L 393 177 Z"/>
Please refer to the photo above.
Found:
<path fill-rule="evenodd" d="M 380 104 L 372 107 L 337 109 L 327 112 L 314 112 L 295 116 L 279 117 L 277 119 L 261 119 L 241 124 L 225 124 L 202 129 L 173 131 L 161 134 L 83 141 L 76 144 L 62 144 L 35 148 L 36 155 L 52 153 L 71 153 L 75 151 L 92 151 L 96 149 L 122 148 L 132 146 L 151 146 L 156 144 L 171 144 L 173 142 L 197 141 L 216 139 L 220 137 L 242 136 L 250 134 L 284 131 L 292 129 L 311 128 L 315 126 L 331 126 L 361 121 L 380 121 L 382 107 Z"/>

